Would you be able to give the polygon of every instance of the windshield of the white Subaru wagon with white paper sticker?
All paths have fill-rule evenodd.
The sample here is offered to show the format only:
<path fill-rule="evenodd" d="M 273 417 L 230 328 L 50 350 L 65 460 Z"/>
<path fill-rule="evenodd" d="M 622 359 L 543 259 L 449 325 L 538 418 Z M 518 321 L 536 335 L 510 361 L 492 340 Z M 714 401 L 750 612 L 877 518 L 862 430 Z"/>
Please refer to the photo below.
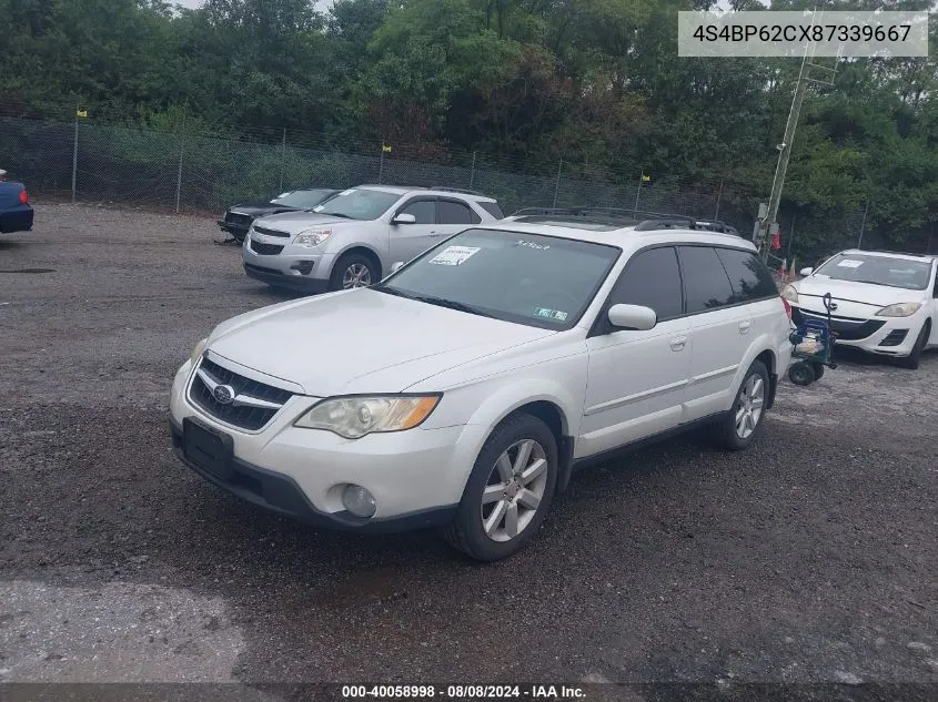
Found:
<path fill-rule="evenodd" d="M 588 242 L 467 230 L 375 288 L 546 329 L 583 316 L 622 251 Z"/>

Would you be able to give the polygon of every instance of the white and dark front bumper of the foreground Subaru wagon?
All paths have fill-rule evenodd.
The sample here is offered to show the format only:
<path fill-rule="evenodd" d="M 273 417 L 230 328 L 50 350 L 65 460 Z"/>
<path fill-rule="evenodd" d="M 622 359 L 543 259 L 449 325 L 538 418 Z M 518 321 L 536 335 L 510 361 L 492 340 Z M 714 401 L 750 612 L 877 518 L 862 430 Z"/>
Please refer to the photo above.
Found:
<path fill-rule="evenodd" d="M 176 375 L 170 395 L 176 456 L 213 485 L 278 515 L 360 531 L 404 531 L 448 523 L 462 499 L 484 428 L 473 425 L 373 434 L 343 439 L 303 429 L 293 420 L 314 398 L 295 395 L 260 431 L 228 427 L 196 410 L 185 397 L 190 365 Z M 186 419 L 230 439 L 223 470 L 200 465 L 183 451 Z M 466 450 L 472 447 L 472 450 Z M 377 509 L 371 519 L 347 512 L 342 489 L 365 487 Z"/>

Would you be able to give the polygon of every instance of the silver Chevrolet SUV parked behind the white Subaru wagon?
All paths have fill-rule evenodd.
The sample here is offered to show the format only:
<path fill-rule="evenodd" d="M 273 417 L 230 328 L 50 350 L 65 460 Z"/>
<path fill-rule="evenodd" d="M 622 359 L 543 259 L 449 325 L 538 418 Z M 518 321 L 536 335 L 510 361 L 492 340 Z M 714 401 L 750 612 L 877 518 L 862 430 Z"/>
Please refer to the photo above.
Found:
<path fill-rule="evenodd" d="M 307 212 L 255 220 L 241 256 L 250 277 L 275 287 L 362 287 L 441 238 L 503 216 L 495 200 L 468 191 L 360 185 Z"/>

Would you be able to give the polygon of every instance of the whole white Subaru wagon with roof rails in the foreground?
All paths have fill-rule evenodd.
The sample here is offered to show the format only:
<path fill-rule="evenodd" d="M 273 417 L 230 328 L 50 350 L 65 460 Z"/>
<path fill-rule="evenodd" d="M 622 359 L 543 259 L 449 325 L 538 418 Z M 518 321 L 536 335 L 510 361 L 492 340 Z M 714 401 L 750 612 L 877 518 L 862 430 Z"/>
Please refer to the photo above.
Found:
<path fill-rule="evenodd" d="M 510 556 L 575 465 L 703 424 L 758 436 L 787 306 L 752 243 L 694 226 L 510 217 L 380 285 L 234 317 L 175 376 L 175 451 L 281 515 Z"/>

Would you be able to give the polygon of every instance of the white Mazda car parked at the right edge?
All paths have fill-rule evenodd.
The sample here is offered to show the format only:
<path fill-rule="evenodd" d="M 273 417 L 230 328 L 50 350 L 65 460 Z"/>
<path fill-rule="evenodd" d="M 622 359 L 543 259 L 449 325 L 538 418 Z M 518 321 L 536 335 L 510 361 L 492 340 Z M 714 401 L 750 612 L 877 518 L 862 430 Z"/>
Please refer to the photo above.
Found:
<path fill-rule="evenodd" d="M 791 283 L 783 296 L 796 323 L 827 319 L 830 293 L 837 344 L 892 356 L 918 368 L 921 352 L 938 346 L 938 258 L 851 248 Z"/>

